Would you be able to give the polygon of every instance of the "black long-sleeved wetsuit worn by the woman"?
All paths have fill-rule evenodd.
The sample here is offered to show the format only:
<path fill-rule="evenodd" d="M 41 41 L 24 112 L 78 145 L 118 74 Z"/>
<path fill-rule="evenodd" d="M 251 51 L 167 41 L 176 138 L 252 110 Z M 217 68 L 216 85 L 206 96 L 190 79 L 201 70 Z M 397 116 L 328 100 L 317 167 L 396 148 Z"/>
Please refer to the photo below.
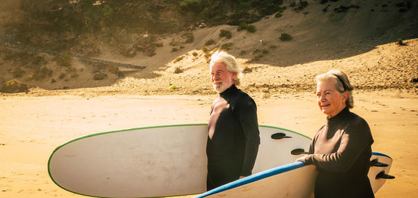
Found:
<path fill-rule="evenodd" d="M 374 197 L 367 177 L 371 144 L 369 125 L 348 108 L 327 119 L 305 158 L 319 172 L 315 197 Z"/>

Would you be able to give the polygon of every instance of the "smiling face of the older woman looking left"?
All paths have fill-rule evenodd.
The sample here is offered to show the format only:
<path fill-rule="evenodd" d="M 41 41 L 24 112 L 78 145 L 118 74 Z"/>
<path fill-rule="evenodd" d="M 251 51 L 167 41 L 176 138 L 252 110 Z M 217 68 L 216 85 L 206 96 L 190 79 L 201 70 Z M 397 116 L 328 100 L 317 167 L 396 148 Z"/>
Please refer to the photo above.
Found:
<path fill-rule="evenodd" d="M 329 118 L 339 114 L 346 107 L 348 93 L 336 90 L 336 79 L 326 79 L 316 84 L 316 99 L 319 109 Z"/>

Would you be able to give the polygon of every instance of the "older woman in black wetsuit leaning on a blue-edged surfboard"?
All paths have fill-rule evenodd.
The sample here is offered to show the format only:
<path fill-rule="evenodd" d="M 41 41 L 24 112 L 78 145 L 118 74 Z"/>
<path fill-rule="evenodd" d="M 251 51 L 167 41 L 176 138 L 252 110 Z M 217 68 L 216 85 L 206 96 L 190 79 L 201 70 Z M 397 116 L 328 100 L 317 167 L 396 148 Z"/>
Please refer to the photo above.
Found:
<path fill-rule="evenodd" d="M 353 108 L 353 86 L 345 73 L 330 70 L 316 77 L 316 98 L 327 122 L 314 135 L 309 155 L 298 158 L 316 165 L 315 197 L 374 197 L 367 173 L 373 137 Z"/>

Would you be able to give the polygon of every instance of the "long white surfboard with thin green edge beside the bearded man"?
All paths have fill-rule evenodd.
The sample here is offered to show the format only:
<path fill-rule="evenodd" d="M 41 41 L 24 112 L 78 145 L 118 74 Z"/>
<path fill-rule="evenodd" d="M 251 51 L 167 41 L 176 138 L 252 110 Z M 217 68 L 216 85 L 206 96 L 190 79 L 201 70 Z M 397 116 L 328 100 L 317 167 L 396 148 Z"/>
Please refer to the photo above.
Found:
<path fill-rule="evenodd" d="M 260 125 L 253 174 L 295 162 L 311 139 Z M 206 124 L 164 125 L 101 132 L 59 146 L 49 158 L 52 181 L 93 197 L 167 197 L 206 191 Z M 274 139 L 273 139 L 274 137 Z"/>

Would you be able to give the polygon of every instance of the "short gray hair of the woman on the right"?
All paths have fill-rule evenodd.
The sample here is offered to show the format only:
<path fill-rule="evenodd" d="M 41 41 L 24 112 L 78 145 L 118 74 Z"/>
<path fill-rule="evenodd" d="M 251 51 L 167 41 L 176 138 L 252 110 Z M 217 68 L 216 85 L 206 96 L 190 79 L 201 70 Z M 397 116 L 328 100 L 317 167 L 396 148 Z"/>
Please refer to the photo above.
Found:
<path fill-rule="evenodd" d="M 323 73 L 321 75 L 316 76 L 316 82 L 322 82 L 327 79 L 335 79 L 335 89 L 339 91 L 339 93 L 348 93 L 348 98 L 346 100 L 346 106 L 351 109 L 354 107 L 354 100 L 353 100 L 353 89 L 354 86 L 350 84 L 346 73 L 341 72 L 340 70 L 332 69 L 327 73 Z"/>

